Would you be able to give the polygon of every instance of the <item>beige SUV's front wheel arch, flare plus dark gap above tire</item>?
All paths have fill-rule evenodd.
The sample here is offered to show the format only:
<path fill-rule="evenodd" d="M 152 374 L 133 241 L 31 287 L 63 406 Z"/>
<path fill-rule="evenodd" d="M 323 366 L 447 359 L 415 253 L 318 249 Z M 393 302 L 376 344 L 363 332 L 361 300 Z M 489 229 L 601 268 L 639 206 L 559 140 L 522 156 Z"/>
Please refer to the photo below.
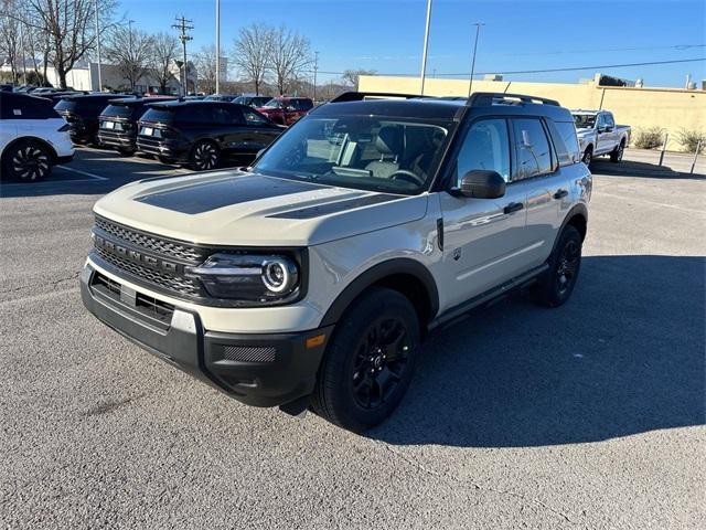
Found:
<path fill-rule="evenodd" d="M 409 299 L 422 330 L 439 310 L 439 292 L 431 273 L 415 259 L 399 257 L 378 263 L 351 282 L 333 300 L 321 326 L 336 324 L 351 304 L 371 287 L 387 287 Z"/>

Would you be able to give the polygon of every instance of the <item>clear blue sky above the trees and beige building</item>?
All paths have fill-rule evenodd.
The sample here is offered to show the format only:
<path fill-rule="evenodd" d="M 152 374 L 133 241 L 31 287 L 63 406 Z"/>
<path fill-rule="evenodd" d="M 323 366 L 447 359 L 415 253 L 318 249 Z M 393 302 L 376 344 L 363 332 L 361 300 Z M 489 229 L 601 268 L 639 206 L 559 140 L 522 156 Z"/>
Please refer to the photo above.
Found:
<path fill-rule="evenodd" d="M 418 74 L 426 0 L 221 0 L 221 45 L 238 28 L 287 24 L 320 52 L 323 72 L 349 68 Z M 119 13 L 147 31 L 171 29 L 175 15 L 195 26 L 195 51 L 215 42 L 215 0 L 120 0 Z M 477 72 L 504 72 L 671 61 L 706 56 L 706 1 L 435 0 L 428 75 L 470 71 L 471 24 L 482 21 Z M 678 47 L 675 47 L 678 46 Z M 686 47 L 692 46 L 692 47 Z M 225 54 L 225 53 L 224 53 Z M 649 86 L 706 78 L 706 63 L 601 68 Z M 506 75 L 507 80 L 574 83 L 595 71 Z M 321 75 L 328 81 L 335 75 Z"/>

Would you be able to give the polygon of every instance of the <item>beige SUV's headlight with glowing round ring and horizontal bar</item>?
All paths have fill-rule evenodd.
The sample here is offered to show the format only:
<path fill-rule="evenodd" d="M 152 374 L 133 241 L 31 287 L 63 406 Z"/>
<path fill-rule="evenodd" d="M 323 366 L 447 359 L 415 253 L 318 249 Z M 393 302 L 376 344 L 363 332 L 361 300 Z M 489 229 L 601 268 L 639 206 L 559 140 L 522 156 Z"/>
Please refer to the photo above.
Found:
<path fill-rule="evenodd" d="M 197 276 L 215 298 L 264 304 L 295 297 L 300 276 L 288 256 L 225 253 L 213 254 L 188 273 Z"/>

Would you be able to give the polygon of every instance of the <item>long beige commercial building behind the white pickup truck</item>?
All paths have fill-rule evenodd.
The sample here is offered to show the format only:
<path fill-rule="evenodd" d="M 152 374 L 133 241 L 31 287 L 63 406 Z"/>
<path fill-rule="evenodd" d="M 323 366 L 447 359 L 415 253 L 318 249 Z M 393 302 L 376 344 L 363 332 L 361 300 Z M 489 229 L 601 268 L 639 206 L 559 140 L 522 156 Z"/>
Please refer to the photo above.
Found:
<path fill-rule="evenodd" d="M 359 89 L 419 94 L 419 77 L 363 75 Z M 430 96 L 467 96 L 468 80 L 425 80 L 424 93 Z M 568 108 L 611 110 L 616 121 L 634 131 L 661 127 L 670 135 L 667 149 L 684 150 L 678 142 L 681 130 L 706 132 L 706 91 L 680 88 L 599 86 L 596 81 L 582 84 L 527 83 L 517 81 L 473 81 L 473 92 L 530 94 L 557 99 Z"/>

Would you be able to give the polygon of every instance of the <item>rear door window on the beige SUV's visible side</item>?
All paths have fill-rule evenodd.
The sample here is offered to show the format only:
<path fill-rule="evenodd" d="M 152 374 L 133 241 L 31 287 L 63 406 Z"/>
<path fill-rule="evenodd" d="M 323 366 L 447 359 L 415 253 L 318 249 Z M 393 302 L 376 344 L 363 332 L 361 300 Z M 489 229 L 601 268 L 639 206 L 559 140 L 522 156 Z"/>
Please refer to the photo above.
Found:
<path fill-rule="evenodd" d="M 552 148 L 539 119 L 518 118 L 512 120 L 517 146 L 517 171 L 515 179 L 528 179 L 552 172 Z"/>

